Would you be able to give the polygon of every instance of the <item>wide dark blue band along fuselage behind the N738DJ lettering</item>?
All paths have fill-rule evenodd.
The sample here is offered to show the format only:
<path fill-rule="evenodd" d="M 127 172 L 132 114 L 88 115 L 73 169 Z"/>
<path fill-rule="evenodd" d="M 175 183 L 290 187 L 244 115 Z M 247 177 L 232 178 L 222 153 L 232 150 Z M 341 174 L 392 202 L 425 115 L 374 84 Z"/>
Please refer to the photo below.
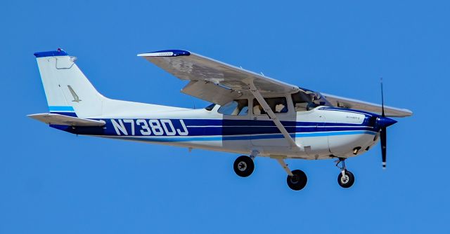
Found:
<path fill-rule="evenodd" d="M 111 122 L 111 119 L 96 119 L 105 121 L 105 125 L 102 127 L 76 127 L 68 128 L 63 125 L 52 125 L 53 128 L 65 130 L 78 135 L 104 135 L 104 136 L 117 136 L 117 132 Z M 118 121 L 117 119 L 115 121 Z M 131 123 L 123 123 L 124 129 L 127 134 L 120 132 L 120 135 L 129 135 L 136 137 L 143 137 L 141 125 L 137 125 L 136 119 L 134 121 L 134 135 Z M 146 120 L 148 123 L 148 120 Z M 169 119 L 175 130 L 183 130 L 181 120 Z M 207 136 L 224 136 L 233 137 L 239 135 L 274 135 L 281 132 L 276 128 L 272 121 L 233 121 L 233 120 L 208 120 L 208 119 L 184 119 L 182 120 L 188 130 L 189 137 L 207 137 Z M 295 134 L 293 137 L 300 137 L 301 134 L 311 135 L 333 135 L 333 132 L 345 132 L 345 131 L 366 131 L 366 132 L 378 132 L 377 130 L 368 127 L 364 124 L 345 124 L 345 123 L 312 123 L 312 122 L 295 122 L 295 121 L 283 121 L 283 125 L 290 134 Z M 150 125 L 149 125 L 150 126 Z M 175 131 L 176 132 L 176 131 Z M 149 136 L 155 136 L 155 132 L 152 132 Z M 167 132 L 162 133 L 161 136 L 167 136 Z M 179 136 L 179 132 L 176 132 L 173 137 Z M 158 136 L 155 136 L 158 137 Z"/>

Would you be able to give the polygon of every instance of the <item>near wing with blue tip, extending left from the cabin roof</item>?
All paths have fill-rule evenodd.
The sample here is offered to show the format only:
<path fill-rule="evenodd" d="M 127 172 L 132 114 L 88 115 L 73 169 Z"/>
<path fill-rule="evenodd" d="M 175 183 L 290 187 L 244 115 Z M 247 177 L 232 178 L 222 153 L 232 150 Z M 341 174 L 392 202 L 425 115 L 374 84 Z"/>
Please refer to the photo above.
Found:
<path fill-rule="evenodd" d="M 161 50 L 138 56 L 144 57 L 181 80 L 190 81 L 181 92 L 219 105 L 244 94 L 250 94 L 250 83 L 255 84 L 262 95 L 285 95 L 299 90 L 296 85 L 283 83 L 186 50 Z"/>

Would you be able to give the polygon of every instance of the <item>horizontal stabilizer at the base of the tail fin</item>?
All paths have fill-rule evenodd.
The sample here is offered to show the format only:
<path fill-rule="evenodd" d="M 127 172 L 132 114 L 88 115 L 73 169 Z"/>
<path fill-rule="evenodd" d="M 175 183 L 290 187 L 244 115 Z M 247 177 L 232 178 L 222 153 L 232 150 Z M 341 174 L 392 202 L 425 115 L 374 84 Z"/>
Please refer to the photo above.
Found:
<path fill-rule="evenodd" d="M 103 126 L 105 121 L 94 121 L 86 118 L 77 118 L 72 116 L 64 116 L 58 113 L 34 113 L 28 115 L 30 118 L 34 118 L 37 121 L 41 121 L 52 125 L 68 125 L 68 126 Z"/>

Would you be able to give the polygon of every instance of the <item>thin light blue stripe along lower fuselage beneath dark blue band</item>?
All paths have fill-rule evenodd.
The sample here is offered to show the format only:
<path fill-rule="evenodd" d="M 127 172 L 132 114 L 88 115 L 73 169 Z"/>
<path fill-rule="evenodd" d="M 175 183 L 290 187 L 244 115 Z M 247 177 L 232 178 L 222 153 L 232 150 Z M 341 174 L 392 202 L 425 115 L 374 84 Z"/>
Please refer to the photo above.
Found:
<path fill-rule="evenodd" d="M 371 131 L 351 131 L 351 132 L 316 132 L 316 133 L 297 133 L 295 137 L 326 137 L 337 135 L 375 135 L 376 132 Z M 291 134 L 291 137 L 294 137 Z M 225 137 L 171 137 L 171 138 L 141 138 L 141 137 L 114 137 L 120 139 L 139 140 L 146 142 L 212 142 L 212 141 L 236 141 L 249 139 L 280 139 L 283 138 L 281 134 L 275 135 L 253 135 L 253 136 L 225 136 Z"/>

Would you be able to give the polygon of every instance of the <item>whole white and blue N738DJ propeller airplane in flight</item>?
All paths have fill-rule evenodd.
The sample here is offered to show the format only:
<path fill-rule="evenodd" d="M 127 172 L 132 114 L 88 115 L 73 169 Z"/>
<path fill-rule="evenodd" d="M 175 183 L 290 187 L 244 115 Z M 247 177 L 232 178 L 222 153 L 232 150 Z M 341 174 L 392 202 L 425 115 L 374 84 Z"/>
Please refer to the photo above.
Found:
<path fill-rule="evenodd" d="M 335 159 L 338 184 L 349 188 L 354 174 L 345 160 L 381 142 L 386 167 L 388 117 L 412 116 L 408 109 L 316 92 L 186 50 L 139 54 L 187 85 L 181 89 L 211 102 L 205 109 L 127 102 L 101 95 L 75 63 L 58 48 L 34 53 L 49 113 L 29 115 L 51 128 L 75 135 L 224 151 L 236 158 L 233 170 L 248 177 L 256 157 L 276 160 L 288 174 L 287 184 L 300 191 L 307 184 L 302 170 L 286 159 Z"/>

